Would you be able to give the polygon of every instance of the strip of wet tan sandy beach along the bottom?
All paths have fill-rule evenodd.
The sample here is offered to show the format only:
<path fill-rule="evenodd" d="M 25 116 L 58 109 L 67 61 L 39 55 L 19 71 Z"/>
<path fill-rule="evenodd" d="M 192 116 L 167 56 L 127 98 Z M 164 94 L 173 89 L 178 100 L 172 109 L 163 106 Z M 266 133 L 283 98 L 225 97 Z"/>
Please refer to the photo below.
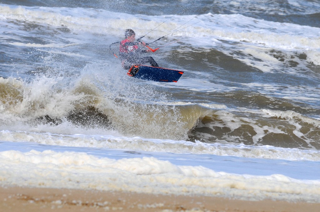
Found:
<path fill-rule="evenodd" d="M 319 203 L 242 201 L 208 196 L 175 196 L 97 190 L 1 187 L 2 212 L 34 211 L 246 211 L 318 212 Z"/>

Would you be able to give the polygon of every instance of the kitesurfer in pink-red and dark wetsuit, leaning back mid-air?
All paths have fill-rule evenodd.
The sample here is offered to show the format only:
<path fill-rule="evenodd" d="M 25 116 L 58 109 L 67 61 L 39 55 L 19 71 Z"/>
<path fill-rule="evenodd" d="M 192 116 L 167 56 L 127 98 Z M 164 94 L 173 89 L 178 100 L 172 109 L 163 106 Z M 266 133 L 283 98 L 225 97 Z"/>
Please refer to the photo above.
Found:
<path fill-rule="evenodd" d="M 134 42 L 136 34 L 132 29 L 125 30 L 125 39 L 120 42 L 119 57 L 124 69 L 129 70 L 133 64 L 150 63 L 153 67 L 159 67 L 152 57 L 139 57 L 140 54 L 151 52 L 150 49 L 142 50 L 138 45 L 146 46 L 143 41 Z"/>

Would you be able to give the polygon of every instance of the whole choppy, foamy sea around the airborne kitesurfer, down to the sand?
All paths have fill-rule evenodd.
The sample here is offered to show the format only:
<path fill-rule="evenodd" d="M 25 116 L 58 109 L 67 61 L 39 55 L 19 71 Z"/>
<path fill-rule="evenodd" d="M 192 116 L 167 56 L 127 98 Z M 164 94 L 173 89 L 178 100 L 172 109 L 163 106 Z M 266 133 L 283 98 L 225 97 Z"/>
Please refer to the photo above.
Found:
<path fill-rule="evenodd" d="M 214 3 L 0 1 L 1 184 L 318 201 L 320 3 Z M 126 75 L 127 28 L 178 83 Z"/>

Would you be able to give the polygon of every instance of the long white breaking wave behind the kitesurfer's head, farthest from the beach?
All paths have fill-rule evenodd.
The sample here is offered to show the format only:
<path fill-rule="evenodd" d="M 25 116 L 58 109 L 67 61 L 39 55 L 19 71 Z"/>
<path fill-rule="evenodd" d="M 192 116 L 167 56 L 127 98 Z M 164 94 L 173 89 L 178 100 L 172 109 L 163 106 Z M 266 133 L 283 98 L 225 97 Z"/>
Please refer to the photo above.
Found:
<path fill-rule="evenodd" d="M 56 27 L 68 27 L 69 29 L 76 30 L 76 32 L 87 31 L 91 33 L 101 33 L 107 35 L 118 35 L 122 34 L 125 28 L 140 28 L 139 34 L 147 34 L 155 26 L 161 24 L 166 16 L 148 16 L 148 15 L 130 15 L 126 17 L 123 13 L 99 10 L 95 11 L 96 16 L 92 17 L 93 9 L 85 8 L 50 8 L 50 7 L 22 7 L 22 6 L 6 6 L 5 4 L 0 5 L 0 11 L 5 19 L 14 19 L 18 21 L 27 21 L 38 24 L 49 24 Z M 80 12 L 81 11 L 81 12 Z M 79 15 L 81 14 L 81 15 Z M 217 14 L 207 13 L 199 16 L 199 22 L 196 19 L 196 23 L 190 23 L 184 27 L 178 28 L 185 19 L 191 19 L 192 15 L 177 15 L 171 19 L 169 23 L 161 24 L 156 30 L 156 34 L 151 33 L 148 36 L 157 38 L 159 34 L 168 34 L 170 32 L 171 37 L 181 38 L 190 36 L 191 34 L 201 32 L 202 30 L 216 25 L 219 22 L 224 22 L 230 17 L 235 17 L 237 14 Z M 213 19 L 211 19 L 213 17 Z M 128 23 L 125 19 L 131 19 Z M 256 22 L 259 22 L 259 30 L 257 31 Z M 270 27 L 272 23 L 272 27 Z M 195 25 L 193 25 L 195 24 Z M 144 27 L 138 27 L 143 25 Z M 236 30 L 230 31 L 229 26 L 235 26 Z M 281 29 L 286 33 L 279 33 Z M 277 23 L 264 21 L 259 19 L 253 19 L 250 17 L 240 16 L 235 20 L 229 20 L 223 25 L 218 25 L 214 29 L 206 29 L 204 32 L 197 34 L 192 37 L 213 37 L 214 39 L 224 39 L 228 41 L 252 43 L 254 45 L 269 47 L 269 48 L 283 48 L 283 49 L 318 49 L 320 44 L 319 41 L 310 37 L 309 34 L 301 34 L 301 29 L 316 34 L 316 28 L 295 25 L 290 23 Z M 299 32 L 299 33 L 298 33 Z M 152 39 L 151 38 L 151 39 Z M 193 39 L 195 43 L 199 42 L 197 39 Z M 203 41 L 202 45 L 207 45 L 210 42 Z"/>

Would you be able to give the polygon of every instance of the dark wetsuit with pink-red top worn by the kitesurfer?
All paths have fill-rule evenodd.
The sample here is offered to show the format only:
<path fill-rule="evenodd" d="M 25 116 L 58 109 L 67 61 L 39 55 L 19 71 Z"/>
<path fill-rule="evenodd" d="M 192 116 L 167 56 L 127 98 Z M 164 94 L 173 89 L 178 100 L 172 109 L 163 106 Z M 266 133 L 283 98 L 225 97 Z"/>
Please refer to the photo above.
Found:
<path fill-rule="evenodd" d="M 130 42 L 127 39 L 120 42 L 119 57 L 122 61 L 122 67 L 129 70 L 133 64 L 150 63 L 153 67 L 158 67 L 158 64 L 152 57 L 139 57 L 140 54 L 148 52 L 141 50 L 137 42 Z"/>

